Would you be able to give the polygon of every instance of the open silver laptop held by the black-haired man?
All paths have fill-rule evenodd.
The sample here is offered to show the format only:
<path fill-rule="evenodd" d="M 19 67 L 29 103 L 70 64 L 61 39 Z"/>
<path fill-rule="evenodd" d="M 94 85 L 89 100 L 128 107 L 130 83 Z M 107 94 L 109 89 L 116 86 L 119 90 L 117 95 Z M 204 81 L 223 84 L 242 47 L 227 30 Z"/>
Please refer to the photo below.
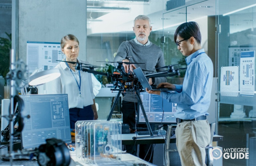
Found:
<path fill-rule="evenodd" d="M 153 90 L 153 91 L 174 91 L 174 90 L 167 89 L 167 88 L 152 89 L 152 87 L 150 86 L 150 84 L 148 82 L 148 79 L 146 78 L 146 76 L 144 75 L 144 73 L 140 67 L 134 69 L 133 71 L 136 74 L 138 81 L 142 85 L 144 91 L 146 91 L 146 88 L 148 88 L 148 90 Z"/>

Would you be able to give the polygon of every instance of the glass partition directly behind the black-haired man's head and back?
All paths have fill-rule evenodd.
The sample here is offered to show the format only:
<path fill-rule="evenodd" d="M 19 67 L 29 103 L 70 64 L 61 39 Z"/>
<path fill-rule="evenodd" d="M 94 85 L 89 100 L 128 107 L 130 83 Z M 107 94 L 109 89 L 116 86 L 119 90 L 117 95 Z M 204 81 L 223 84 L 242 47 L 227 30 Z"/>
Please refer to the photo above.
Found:
<path fill-rule="evenodd" d="M 189 21 L 195 21 L 198 23 L 201 31 L 201 46 L 204 48 L 207 55 L 213 61 L 215 66 L 215 57 L 216 57 L 216 4 L 215 0 L 208 0 L 208 1 L 197 1 L 197 3 L 186 3 L 184 7 L 173 9 L 170 11 L 166 11 L 163 14 L 163 34 L 166 37 L 166 43 L 163 44 L 163 51 L 165 55 L 166 64 L 175 65 L 175 68 L 184 68 L 186 67 L 185 56 L 178 50 L 177 45 L 174 42 L 174 33 L 177 27 Z M 176 65 L 178 64 L 178 65 Z M 214 68 L 215 70 L 215 68 Z M 168 82 L 173 84 L 182 84 L 183 77 L 185 75 L 186 69 L 180 70 L 180 76 L 174 76 L 168 78 Z M 215 77 L 215 75 L 214 75 Z M 217 111 L 217 104 L 215 102 L 216 96 L 216 79 L 213 79 L 213 88 L 211 93 L 211 103 L 208 109 L 208 116 L 209 123 L 216 123 L 216 111 Z M 215 130 L 217 132 L 217 130 Z"/>

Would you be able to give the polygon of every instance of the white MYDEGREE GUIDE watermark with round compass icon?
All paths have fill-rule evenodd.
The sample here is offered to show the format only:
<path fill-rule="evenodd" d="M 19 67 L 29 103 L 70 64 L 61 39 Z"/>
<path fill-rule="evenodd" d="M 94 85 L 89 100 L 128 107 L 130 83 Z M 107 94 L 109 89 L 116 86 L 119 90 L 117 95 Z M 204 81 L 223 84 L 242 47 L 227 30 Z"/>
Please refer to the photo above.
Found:
<path fill-rule="evenodd" d="M 223 152 L 220 148 L 211 149 L 210 155 L 213 159 L 249 159 L 249 148 L 224 148 Z"/>

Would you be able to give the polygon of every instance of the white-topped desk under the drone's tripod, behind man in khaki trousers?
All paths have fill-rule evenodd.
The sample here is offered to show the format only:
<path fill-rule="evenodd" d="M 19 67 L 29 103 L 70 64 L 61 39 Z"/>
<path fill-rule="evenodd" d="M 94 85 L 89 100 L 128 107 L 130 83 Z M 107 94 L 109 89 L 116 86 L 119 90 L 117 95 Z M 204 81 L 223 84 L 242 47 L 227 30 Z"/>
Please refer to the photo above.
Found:
<path fill-rule="evenodd" d="M 157 144 L 157 143 L 165 143 L 165 135 L 157 136 L 157 137 L 148 137 L 148 138 L 139 138 L 145 137 L 147 135 L 137 135 L 137 139 L 133 139 L 136 137 L 136 134 L 122 134 L 122 145 L 134 145 L 134 144 Z M 150 135 L 148 135 L 150 136 Z M 213 135 L 213 142 L 222 141 L 223 136 Z M 171 137 L 170 143 L 176 143 L 176 137 Z"/>

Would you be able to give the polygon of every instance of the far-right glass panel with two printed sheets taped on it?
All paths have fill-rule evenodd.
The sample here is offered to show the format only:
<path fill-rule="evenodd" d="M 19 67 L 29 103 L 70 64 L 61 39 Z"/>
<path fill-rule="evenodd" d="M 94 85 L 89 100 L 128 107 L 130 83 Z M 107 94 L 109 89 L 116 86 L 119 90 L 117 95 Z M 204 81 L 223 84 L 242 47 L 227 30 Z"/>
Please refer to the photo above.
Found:
<path fill-rule="evenodd" d="M 223 165 L 254 164 L 250 154 L 256 133 L 255 6 L 255 1 L 218 2 L 218 134 L 224 136 L 218 145 L 246 148 L 249 153 L 249 159 L 223 156 Z"/>

